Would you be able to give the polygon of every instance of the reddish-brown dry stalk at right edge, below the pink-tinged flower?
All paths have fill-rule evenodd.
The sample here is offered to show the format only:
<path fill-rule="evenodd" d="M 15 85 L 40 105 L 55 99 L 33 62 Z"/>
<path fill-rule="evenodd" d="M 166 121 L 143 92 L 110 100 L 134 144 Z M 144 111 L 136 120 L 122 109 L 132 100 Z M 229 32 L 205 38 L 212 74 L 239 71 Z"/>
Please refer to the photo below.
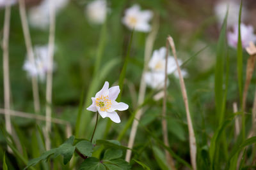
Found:
<path fill-rule="evenodd" d="M 249 59 L 247 60 L 247 66 L 246 66 L 246 80 L 244 85 L 244 91 L 243 91 L 243 111 L 246 109 L 246 97 L 248 94 L 248 89 L 250 82 L 252 80 L 252 74 L 255 68 L 255 62 L 256 62 L 256 56 L 251 55 Z"/>

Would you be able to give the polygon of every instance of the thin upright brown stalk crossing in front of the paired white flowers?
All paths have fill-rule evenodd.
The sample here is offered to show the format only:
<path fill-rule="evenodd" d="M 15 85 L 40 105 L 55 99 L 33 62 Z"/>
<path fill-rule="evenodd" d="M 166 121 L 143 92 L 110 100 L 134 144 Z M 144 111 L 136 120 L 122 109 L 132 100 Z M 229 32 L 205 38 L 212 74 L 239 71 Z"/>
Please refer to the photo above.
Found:
<path fill-rule="evenodd" d="M 168 66 L 168 41 L 166 41 L 166 55 L 165 55 L 165 67 L 164 67 L 164 98 L 163 98 L 163 110 L 162 110 L 162 129 L 163 129 L 163 140 L 164 145 L 170 147 L 168 140 L 168 130 L 167 130 L 167 121 L 166 121 L 166 98 L 167 98 L 167 66 Z M 166 162 L 170 165 L 172 169 L 175 168 L 172 156 L 168 150 L 164 149 Z"/>

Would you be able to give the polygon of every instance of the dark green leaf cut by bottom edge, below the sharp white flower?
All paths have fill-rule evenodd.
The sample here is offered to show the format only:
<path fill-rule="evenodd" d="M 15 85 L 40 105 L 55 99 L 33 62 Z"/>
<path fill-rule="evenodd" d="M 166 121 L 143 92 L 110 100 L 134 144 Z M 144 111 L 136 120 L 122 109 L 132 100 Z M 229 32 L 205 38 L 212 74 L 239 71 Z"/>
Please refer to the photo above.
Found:
<path fill-rule="evenodd" d="M 106 170 L 106 167 L 95 157 L 90 157 L 81 164 L 80 170 Z"/>

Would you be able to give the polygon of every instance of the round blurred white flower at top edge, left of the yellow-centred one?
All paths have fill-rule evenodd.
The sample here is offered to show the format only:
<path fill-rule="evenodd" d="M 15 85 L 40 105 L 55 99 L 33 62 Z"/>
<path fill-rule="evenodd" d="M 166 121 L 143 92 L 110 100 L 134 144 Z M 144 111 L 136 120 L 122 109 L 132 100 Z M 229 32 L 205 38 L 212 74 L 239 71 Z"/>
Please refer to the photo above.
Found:
<path fill-rule="evenodd" d="M 106 0 L 95 0 L 85 8 L 85 15 L 93 24 L 102 24 L 106 20 L 108 13 Z"/>

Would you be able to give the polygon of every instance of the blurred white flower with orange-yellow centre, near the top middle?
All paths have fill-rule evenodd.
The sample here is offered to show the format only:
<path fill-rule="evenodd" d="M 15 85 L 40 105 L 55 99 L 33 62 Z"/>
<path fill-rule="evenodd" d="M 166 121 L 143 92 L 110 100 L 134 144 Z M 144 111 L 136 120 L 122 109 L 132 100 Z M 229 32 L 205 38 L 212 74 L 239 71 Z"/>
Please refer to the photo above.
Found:
<path fill-rule="evenodd" d="M 152 16 L 152 11 L 141 11 L 140 6 L 138 4 L 134 4 L 134 6 L 125 10 L 125 16 L 122 22 L 131 30 L 134 29 L 135 31 L 148 32 L 151 29 L 148 22 Z"/>

